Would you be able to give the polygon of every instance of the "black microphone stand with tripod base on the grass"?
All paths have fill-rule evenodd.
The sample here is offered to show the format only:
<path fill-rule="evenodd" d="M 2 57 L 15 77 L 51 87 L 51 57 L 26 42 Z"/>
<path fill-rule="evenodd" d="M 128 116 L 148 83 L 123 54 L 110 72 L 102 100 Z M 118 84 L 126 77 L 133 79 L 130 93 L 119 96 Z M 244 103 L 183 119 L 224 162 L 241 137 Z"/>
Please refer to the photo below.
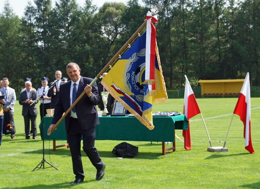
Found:
<path fill-rule="evenodd" d="M 55 82 L 53 82 L 53 85 L 55 85 Z M 51 87 L 52 87 L 52 85 L 51 85 Z M 41 96 L 39 96 L 36 99 L 36 100 L 38 100 L 39 98 L 42 98 L 42 161 L 31 172 L 33 172 L 36 168 L 45 169 L 45 168 L 54 167 L 55 169 L 59 170 L 57 167 L 55 167 L 54 165 L 52 165 L 51 163 L 46 161 L 46 159 L 44 157 L 44 98 L 43 98 L 43 96 L 46 92 L 48 92 L 51 89 L 51 87 L 49 87 L 49 89 L 47 91 L 44 91 L 41 94 Z M 36 100 L 33 103 L 31 103 L 30 106 L 35 104 Z M 50 167 L 44 167 L 44 162 L 48 163 L 50 165 Z M 41 165 L 41 166 L 39 167 L 39 165 Z"/>

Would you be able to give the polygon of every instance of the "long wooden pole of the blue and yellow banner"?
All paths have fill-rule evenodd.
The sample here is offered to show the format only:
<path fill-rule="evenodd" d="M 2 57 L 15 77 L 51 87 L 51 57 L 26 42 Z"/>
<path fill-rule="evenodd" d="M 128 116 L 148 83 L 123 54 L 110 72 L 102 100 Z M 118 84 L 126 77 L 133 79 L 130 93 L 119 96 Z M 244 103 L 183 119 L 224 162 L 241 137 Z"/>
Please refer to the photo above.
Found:
<path fill-rule="evenodd" d="M 92 86 L 96 80 L 107 70 L 107 68 L 116 60 L 116 58 L 122 53 L 122 51 L 129 46 L 129 43 L 135 38 L 136 35 L 146 26 L 147 20 L 144 21 L 144 23 L 136 30 L 136 32 L 128 39 L 128 41 L 121 47 L 121 49 L 114 55 L 114 57 L 107 63 L 107 65 L 99 72 L 99 74 L 93 79 L 93 81 L 89 84 Z M 84 96 L 85 91 L 81 93 L 81 95 L 75 100 L 75 102 L 70 106 L 70 108 L 64 113 L 64 115 L 60 118 L 60 120 L 53 126 L 51 129 L 51 132 L 48 133 L 48 135 L 51 135 L 51 133 L 56 129 L 56 127 L 61 123 L 61 121 L 66 117 L 66 115 L 70 112 L 70 110 L 79 102 L 79 100 Z"/>

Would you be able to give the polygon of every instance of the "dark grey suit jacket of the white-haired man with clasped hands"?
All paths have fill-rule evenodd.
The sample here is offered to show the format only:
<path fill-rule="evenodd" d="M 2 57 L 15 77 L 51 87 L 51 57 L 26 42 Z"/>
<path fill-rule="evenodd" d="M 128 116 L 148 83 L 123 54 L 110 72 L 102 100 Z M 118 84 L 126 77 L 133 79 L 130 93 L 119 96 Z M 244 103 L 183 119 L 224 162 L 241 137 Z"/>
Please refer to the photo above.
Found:
<path fill-rule="evenodd" d="M 38 98 L 37 91 L 31 90 L 29 99 L 34 101 L 37 98 Z M 27 116 L 28 111 L 30 112 L 31 115 L 37 115 L 38 110 L 37 110 L 36 104 L 38 103 L 39 100 L 37 100 L 35 104 L 30 106 L 30 104 L 25 103 L 25 100 L 27 100 L 27 99 L 28 99 L 27 93 L 25 90 L 25 91 L 21 92 L 20 97 L 19 97 L 19 104 L 23 105 L 22 115 Z"/>

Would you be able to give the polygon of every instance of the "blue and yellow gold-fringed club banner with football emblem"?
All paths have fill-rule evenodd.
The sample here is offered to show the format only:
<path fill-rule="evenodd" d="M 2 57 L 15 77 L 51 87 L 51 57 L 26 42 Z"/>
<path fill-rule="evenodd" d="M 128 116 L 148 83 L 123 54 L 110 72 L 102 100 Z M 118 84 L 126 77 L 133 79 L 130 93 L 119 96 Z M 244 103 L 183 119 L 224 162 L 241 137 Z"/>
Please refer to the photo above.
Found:
<path fill-rule="evenodd" d="M 101 84 L 148 129 L 153 129 L 152 105 L 168 99 L 156 45 L 155 92 L 149 95 L 145 80 L 146 32 L 116 62 Z"/>

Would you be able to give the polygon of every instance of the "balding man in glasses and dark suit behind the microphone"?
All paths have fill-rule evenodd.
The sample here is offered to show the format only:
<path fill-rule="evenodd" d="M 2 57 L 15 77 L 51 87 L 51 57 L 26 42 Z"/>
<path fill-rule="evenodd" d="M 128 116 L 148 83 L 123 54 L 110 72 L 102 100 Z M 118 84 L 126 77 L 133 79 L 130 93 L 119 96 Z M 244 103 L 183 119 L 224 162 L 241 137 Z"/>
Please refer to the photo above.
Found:
<path fill-rule="evenodd" d="M 53 85 L 53 87 L 51 87 L 50 92 L 48 92 L 48 97 L 51 97 L 51 109 L 55 107 L 55 104 L 57 102 L 58 94 L 60 91 L 60 85 L 62 83 L 65 83 L 65 81 L 61 80 L 62 72 L 60 70 L 57 70 L 54 76 L 55 79 L 57 79 L 58 81 L 55 83 L 55 85 L 53 85 L 53 82 L 50 83 L 50 86 Z"/>

